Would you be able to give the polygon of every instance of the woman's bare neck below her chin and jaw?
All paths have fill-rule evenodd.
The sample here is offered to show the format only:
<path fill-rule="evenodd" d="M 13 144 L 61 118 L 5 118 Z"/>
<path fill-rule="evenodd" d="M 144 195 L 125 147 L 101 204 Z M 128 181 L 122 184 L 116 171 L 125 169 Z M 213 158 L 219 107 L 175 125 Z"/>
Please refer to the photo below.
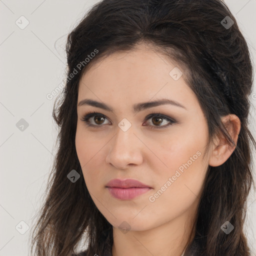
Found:
<path fill-rule="evenodd" d="M 147 230 L 129 230 L 123 233 L 113 227 L 112 256 L 181 256 L 194 236 L 193 222 L 194 217 L 191 219 L 185 212 Z"/>

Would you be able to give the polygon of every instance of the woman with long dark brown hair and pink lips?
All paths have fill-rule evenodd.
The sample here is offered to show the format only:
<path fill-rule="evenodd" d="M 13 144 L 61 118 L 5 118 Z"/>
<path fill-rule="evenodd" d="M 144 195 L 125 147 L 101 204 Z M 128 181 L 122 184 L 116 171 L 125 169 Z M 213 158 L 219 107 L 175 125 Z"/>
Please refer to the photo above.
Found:
<path fill-rule="evenodd" d="M 252 66 L 227 6 L 103 0 L 66 52 L 34 255 L 250 255 Z"/>

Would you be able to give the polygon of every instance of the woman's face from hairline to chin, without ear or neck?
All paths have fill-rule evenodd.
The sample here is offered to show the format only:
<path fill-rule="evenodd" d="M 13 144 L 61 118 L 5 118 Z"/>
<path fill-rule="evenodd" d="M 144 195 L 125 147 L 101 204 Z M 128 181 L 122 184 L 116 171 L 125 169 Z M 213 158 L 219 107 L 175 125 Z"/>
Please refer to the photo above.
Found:
<path fill-rule="evenodd" d="M 198 205 L 208 129 L 176 68 L 141 47 L 104 58 L 80 79 L 76 152 L 92 200 L 114 227 L 126 221 L 131 230 L 150 229 L 190 216 Z M 171 103 L 138 105 L 161 99 Z M 83 120 L 89 112 L 96 114 Z M 112 179 L 124 181 L 109 184 Z"/>

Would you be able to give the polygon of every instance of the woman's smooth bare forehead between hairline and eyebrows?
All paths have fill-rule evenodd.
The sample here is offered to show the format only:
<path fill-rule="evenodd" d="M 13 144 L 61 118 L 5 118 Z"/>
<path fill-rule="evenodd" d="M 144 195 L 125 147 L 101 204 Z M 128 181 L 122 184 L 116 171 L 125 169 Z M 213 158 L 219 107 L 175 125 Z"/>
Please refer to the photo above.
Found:
<path fill-rule="evenodd" d="M 180 76 L 173 78 L 173 71 Z M 115 52 L 96 61 L 85 71 L 79 82 L 78 100 L 90 97 L 123 103 L 171 98 L 191 103 L 197 101 L 185 83 L 182 68 L 165 55 L 147 47 Z M 106 99 L 106 100 L 104 100 Z"/>

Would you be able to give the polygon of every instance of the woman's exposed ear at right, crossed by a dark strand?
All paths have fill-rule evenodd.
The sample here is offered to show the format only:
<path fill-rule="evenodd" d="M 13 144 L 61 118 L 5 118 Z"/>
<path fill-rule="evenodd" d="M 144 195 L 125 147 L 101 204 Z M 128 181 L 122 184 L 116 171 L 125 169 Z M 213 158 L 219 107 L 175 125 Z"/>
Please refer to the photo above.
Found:
<path fill-rule="evenodd" d="M 221 117 L 221 120 L 224 126 L 226 127 L 229 135 L 233 139 L 235 145 L 230 146 L 222 133 L 217 135 L 209 157 L 210 166 L 219 166 L 228 159 L 228 157 L 232 154 L 233 150 L 235 149 L 238 134 L 240 132 L 241 122 L 240 119 L 235 114 L 225 115 Z"/>

